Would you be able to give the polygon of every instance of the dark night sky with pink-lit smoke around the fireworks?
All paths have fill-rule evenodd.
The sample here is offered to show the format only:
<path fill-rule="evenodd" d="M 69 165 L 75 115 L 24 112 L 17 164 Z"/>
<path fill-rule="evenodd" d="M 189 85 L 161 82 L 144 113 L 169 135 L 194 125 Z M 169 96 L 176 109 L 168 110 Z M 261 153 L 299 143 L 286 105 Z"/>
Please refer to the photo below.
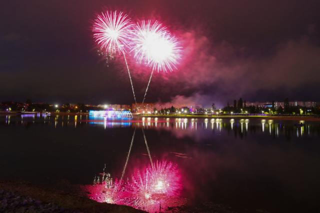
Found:
<path fill-rule="evenodd" d="M 123 61 L 106 63 L 92 38 L 105 8 L 159 19 L 181 41 L 181 64 L 154 74 L 146 101 L 320 100 L 318 0 L 10 0 L 0 8 L 0 101 L 133 102 Z M 129 66 L 140 100 L 150 70 Z"/>

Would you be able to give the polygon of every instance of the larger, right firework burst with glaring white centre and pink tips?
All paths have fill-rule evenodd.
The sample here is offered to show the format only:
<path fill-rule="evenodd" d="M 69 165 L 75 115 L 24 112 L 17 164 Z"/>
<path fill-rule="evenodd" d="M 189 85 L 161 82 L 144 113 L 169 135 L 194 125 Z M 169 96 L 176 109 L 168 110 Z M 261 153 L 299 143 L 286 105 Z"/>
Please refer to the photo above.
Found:
<path fill-rule="evenodd" d="M 152 70 L 172 71 L 181 58 L 181 47 L 161 23 L 142 20 L 134 26 L 131 51 L 139 62 L 145 62 Z"/>

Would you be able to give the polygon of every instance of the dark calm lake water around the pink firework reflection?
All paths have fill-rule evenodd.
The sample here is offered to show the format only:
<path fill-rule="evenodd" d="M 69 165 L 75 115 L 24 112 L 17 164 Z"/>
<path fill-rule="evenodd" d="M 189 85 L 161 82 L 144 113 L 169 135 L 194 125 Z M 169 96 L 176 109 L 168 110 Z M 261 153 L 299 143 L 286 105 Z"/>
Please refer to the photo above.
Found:
<path fill-rule="evenodd" d="M 120 178 L 128 159 L 125 179 L 151 158 L 176 164 L 179 196 L 194 205 L 320 210 L 319 122 L 0 115 L 0 138 L 1 179 L 90 184 L 104 165 Z"/>

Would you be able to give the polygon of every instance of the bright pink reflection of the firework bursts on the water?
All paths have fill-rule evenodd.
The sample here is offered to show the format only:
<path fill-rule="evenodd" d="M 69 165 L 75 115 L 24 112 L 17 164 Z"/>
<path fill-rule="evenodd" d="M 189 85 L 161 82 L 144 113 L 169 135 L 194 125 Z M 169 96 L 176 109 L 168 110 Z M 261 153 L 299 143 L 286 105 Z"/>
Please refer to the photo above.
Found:
<path fill-rule="evenodd" d="M 106 176 L 101 182 L 84 187 L 91 199 L 150 212 L 159 211 L 160 206 L 167 208 L 185 203 L 185 199 L 178 196 L 182 189 L 181 175 L 172 162 L 157 161 L 153 167 L 148 165 L 136 170 L 127 181 L 113 181 Z"/>

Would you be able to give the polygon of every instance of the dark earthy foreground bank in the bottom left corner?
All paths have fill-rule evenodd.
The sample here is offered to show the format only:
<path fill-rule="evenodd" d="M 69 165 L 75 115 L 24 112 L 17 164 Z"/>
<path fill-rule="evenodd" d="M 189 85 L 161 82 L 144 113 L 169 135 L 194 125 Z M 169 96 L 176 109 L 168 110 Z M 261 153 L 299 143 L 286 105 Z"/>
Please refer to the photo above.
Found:
<path fill-rule="evenodd" d="M 129 206 L 95 202 L 72 190 L 75 189 L 1 181 L 0 212 L 142 212 Z"/>

